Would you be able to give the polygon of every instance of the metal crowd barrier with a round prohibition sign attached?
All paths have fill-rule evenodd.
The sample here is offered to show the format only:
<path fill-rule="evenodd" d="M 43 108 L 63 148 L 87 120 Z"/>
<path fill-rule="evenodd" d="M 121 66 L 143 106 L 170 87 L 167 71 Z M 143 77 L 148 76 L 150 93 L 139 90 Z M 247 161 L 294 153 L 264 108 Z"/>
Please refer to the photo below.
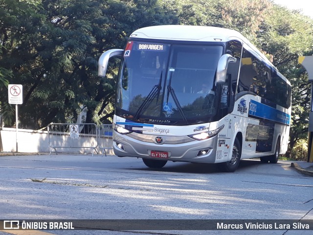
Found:
<path fill-rule="evenodd" d="M 51 151 L 64 149 L 92 149 L 98 147 L 98 128 L 94 123 L 51 123 L 47 127 Z"/>

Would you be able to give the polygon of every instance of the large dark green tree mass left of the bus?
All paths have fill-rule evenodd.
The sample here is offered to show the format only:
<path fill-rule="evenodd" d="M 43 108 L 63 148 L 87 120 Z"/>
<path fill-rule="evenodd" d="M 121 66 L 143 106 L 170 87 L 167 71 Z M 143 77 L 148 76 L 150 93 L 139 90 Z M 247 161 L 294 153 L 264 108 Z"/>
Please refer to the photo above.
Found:
<path fill-rule="evenodd" d="M 23 85 L 22 128 L 75 121 L 82 107 L 87 122 L 106 122 L 115 80 L 97 76 L 99 56 L 124 47 L 136 28 L 174 19 L 156 0 L 5 0 L 2 10 L 0 67 Z M 12 126 L 12 107 L 2 105 L 2 113 Z"/>

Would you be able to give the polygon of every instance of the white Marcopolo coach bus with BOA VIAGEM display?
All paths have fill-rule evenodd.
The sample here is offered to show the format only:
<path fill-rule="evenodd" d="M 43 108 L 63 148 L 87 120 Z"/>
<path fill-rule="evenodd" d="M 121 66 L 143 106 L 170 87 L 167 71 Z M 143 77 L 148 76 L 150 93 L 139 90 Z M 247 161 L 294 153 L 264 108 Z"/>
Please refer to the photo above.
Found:
<path fill-rule="evenodd" d="M 239 32 L 206 26 L 141 28 L 125 50 L 99 59 L 99 76 L 120 57 L 113 118 L 117 156 L 217 163 L 277 163 L 287 151 L 291 85 Z"/>

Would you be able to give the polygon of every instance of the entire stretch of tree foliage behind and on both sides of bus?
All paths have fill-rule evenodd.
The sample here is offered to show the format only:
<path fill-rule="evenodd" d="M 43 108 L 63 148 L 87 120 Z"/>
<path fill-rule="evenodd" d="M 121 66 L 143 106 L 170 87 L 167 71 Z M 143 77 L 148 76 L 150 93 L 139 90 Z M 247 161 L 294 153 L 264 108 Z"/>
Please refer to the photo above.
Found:
<path fill-rule="evenodd" d="M 23 85 L 21 128 L 86 122 L 113 115 L 114 63 L 97 76 L 103 51 L 123 48 L 135 29 L 157 24 L 219 26 L 240 31 L 292 85 L 290 150 L 308 128 L 310 84 L 300 55 L 313 53 L 313 20 L 269 0 L 0 0 L 0 110 L 7 127 L 14 110 L 7 85 Z"/>

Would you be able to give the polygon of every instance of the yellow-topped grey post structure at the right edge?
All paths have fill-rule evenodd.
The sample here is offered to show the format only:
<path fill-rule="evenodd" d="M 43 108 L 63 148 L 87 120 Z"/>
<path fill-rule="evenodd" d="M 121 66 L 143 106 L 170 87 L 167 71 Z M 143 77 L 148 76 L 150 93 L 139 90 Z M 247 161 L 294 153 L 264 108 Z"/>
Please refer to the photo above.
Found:
<path fill-rule="evenodd" d="M 308 162 L 313 162 L 313 56 L 299 56 L 301 64 L 308 72 L 311 83 L 311 108 L 309 113 Z"/>

